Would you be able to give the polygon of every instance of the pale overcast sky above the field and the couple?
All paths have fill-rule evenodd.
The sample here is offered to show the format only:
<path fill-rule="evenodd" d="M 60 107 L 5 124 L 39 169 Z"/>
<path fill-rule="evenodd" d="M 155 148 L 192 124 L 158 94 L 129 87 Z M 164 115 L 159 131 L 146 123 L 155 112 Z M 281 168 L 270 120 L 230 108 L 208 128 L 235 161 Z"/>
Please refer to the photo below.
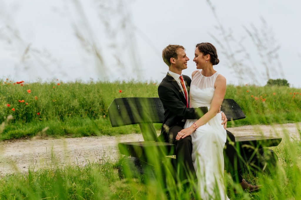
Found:
<path fill-rule="evenodd" d="M 301 2 L 210 2 L 0 0 L 1 76 L 160 82 L 165 46 L 186 48 L 191 76 L 195 45 L 211 42 L 228 83 L 301 87 Z"/>

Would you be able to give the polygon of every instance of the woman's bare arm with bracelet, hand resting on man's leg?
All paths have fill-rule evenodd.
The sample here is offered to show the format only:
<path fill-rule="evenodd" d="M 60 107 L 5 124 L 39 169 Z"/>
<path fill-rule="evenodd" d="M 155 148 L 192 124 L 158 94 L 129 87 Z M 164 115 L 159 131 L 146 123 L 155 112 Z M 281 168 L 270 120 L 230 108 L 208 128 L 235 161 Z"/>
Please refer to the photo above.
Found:
<path fill-rule="evenodd" d="M 214 85 L 215 85 L 215 91 L 213 94 L 213 99 L 209 111 L 205 115 L 203 115 L 200 119 L 198 119 L 195 122 L 195 124 L 192 124 L 190 127 L 185 128 L 180 132 L 178 132 L 178 135 L 176 136 L 177 140 L 191 135 L 191 133 L 193 133 L 197 129 L 197 127 L 206 124 L 210 119 L 216 116 L 216 113 L 219 111 L 226 93 L 225 77 L 222 75 L 217 76 Z"/>

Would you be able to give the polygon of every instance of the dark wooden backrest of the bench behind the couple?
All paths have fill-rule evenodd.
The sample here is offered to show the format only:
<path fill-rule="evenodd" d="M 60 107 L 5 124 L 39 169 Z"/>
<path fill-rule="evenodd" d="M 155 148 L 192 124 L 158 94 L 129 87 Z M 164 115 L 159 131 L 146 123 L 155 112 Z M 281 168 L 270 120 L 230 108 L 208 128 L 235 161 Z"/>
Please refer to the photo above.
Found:
<path fill-rule="evenodd" d="M 221 110 L 230 120 L 246 116 L 233 99 L 224 99 Z M 164 109 L 158 97 L 116 98 L 108 108 L 112 127 L 139 124 L 144 141 L 157 138 L 153 123 L 163 123 Z"/>

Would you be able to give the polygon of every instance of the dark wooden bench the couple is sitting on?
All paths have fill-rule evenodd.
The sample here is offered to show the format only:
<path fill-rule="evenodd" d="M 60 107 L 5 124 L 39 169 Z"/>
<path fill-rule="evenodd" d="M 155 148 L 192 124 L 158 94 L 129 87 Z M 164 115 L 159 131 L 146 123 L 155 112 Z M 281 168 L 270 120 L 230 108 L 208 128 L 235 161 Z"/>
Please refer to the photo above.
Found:
<path fill-rule="evenodd" d="M 232 99 L 224 99 L 221 110 L 225 112 L 228 122 L 246 117 L 240 106 Z M 167 142 L 155 142 L 157 132 L 153 124 L 162 124 L 164 119 L 164 109 L 159 98 L 116 98 L 110 104 L 108 113 L 112 127 L 139 124 L 143 142 L 121 142 L 118 144 L 120 153 L 129 157 L 137 165 L 150 163 L 150 156 L 157 158 L 175 155 L 175 145 Z M 242 157 L 248 160 L 251 155 L 254 155 L 253 152 L 248 153 L 250 149 L 258 150 L 263 147 L 277 146 L 281 140 L 281 138 L 266 136 L 236 136 L 235 145 L 241 147 L 240 151 L 245 149 L 244 152 L 247 153 L 242 154 Z M 257 158 L 259 163 L 262 160 L 262 157 Z M 141 165 L 139 170 L 142 170 Z"/>

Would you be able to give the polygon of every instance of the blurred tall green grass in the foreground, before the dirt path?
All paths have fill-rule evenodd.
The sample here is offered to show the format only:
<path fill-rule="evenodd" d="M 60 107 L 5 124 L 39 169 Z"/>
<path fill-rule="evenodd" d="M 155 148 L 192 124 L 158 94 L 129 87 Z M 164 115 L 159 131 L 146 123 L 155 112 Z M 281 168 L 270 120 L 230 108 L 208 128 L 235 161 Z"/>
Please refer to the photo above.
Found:
<path fill-rule="evenodd" d="M 301 132 L 300 132 L 301 133 Z M 269 172 L 245 174 L 253 184 L 264 187 L 258 193 L 233 191 L 231 176 L 225 172 L 225 185 L 230 199 L 300 199 L 301 197 L 301 142 L 287 135 L 277 147 L 272 147 L 279 157 L 277 169 Z M 29 169 L 28 173 L 5 175 L 0 179 L 0 199 L 187 199 L 181 186 L 163 189 L 162 176 L 141 182 L 137 178 L 119 179 L 119 161 L 109 157 L 99 163 L 85 166 L 57 167 L 55 157 L 50 166 Z"/>

